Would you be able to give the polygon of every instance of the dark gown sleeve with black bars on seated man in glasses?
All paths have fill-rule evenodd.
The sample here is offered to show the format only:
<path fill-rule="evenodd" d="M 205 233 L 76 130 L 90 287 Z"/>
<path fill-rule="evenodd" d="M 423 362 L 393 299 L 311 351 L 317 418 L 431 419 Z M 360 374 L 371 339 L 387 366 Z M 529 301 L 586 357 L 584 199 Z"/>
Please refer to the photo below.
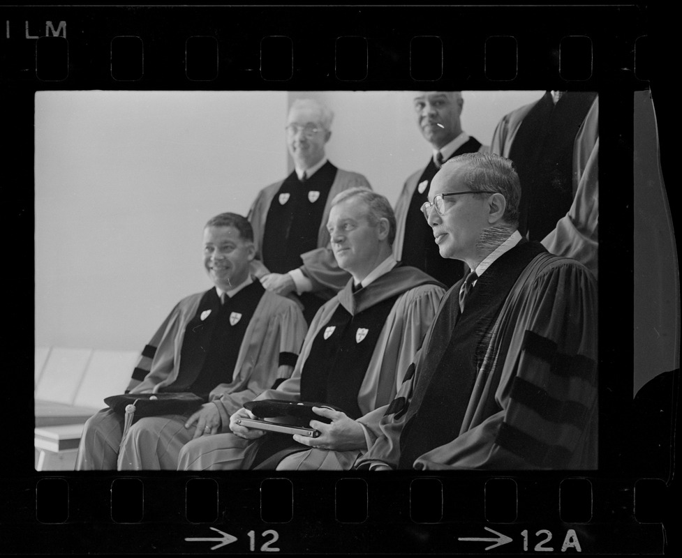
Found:
<path fill-rule="evenodd" d="M 486 356 L 503 365 L 479 374 L 459 437 L 415 469 L 597 467 L 595 280 L 558 258 L 527 279 L 507 299 Z"/>

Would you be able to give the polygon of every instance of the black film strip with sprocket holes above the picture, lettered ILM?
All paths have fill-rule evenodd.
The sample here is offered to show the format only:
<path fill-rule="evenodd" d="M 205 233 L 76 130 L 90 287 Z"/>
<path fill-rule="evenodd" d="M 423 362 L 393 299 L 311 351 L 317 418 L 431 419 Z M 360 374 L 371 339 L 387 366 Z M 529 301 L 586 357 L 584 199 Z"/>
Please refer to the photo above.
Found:
<path fill-rule="evenodd" d="M 7 8 L 0 76 L 47 89 L 642 89 L 647 16 L 636 6 Z"/>

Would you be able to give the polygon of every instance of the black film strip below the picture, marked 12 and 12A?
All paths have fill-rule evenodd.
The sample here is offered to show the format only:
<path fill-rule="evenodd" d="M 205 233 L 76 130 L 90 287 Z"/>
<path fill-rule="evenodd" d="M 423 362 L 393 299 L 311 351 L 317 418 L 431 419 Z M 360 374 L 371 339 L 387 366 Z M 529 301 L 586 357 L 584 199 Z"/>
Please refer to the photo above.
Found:
<path fill-rule="evenodd" d="M 18 492 L 19 490 L 17 490 Z M 662 553 L 661 481 L 251 474 L 45 477 L 5 552 Z M 35 515 L 34 515 L 35 514 Z M 8 518 L 3 518 L 3 522 Z M 229 546 L 228 546 L 229 545 Z"/>

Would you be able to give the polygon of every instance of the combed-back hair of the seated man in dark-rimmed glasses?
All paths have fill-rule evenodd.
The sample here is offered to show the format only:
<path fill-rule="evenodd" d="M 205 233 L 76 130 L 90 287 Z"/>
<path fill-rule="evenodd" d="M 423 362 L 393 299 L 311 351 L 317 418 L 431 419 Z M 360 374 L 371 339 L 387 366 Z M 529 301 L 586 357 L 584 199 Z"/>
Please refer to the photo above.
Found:
<path fill-rule="evenodd" d="M 464 172 L 463 183 L 470 190 L 494 190 L 507 202 L 503 220 L 510 225 L 519 224 L 521 181 L 514 163 L 494 153 L 464 153 L 447 160 L 445 165 L 459 165 Z"/>

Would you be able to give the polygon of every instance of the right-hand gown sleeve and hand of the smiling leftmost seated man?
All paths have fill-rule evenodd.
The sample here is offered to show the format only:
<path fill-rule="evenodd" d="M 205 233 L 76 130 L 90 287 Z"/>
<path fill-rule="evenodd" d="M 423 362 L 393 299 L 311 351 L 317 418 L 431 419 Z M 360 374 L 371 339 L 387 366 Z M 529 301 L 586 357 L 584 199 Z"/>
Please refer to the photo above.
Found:
<path fill-rule="evenodd" d="M 218 407 L 224 432 L 229 431 L 230 415 L 245 402 L 290 377 L 306 331 L 305 319 L 295 303 L 273 293 L 263 294 L 244 334 L 235 378 L 218 384 L 209 395 Z"/>

